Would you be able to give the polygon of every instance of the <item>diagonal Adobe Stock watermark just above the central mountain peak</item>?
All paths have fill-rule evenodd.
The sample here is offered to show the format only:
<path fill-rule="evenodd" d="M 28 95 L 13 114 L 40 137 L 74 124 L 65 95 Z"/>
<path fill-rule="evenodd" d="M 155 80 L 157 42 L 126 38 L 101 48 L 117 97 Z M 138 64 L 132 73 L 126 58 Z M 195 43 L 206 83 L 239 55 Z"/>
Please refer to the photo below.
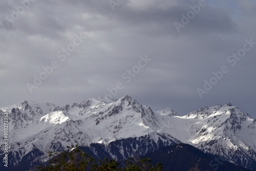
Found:
<path fill-rule="evenodd" d="M 147 58 L 147 55 L 145 55 L 145 56 L 140 55 L 140 60 L 138 61 L 137 65 L 133 66 L 132 69 L 128 69 L 124 73 L 122 73 L 121 78 L 123 80 L 125 80 L 126 83 L 131 82 L 132 79 L 140 73 L 141 69 L 146 67 L 148 62 L 150 62 L 151 60 L 152 59 Z M 115 87 L 106 89 L 106 90 L 108 90 L 109 93 L 106 93 L 104 95 L 104 98 L 108 98 L 108 97 L 114 98 L 118 94 L 118 91 L 120 91 L 122 89 L 124 89 L 124 83 L 117 82 L 115 84 Z"/>

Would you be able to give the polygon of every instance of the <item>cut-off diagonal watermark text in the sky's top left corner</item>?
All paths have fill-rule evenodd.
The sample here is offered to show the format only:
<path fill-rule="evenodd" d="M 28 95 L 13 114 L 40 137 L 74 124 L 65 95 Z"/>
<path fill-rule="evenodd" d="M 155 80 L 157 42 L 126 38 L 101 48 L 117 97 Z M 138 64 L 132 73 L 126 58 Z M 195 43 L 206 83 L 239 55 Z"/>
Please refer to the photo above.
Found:
<path fill-rule="evenodd" d="M 35 4 L 35 2 L 38 0 L 22 0 L 19 1 L 19 5 L 17 8 L 12 8 L 12 12 L 9 16 L 4 16 L 1 18 L 2 25 L 9 28 L 11 24 L 13 24 L 17 19 L 20 18 L 22 14 L 25 13 L 26 10 L 28 10 L 32 4 Z"/>

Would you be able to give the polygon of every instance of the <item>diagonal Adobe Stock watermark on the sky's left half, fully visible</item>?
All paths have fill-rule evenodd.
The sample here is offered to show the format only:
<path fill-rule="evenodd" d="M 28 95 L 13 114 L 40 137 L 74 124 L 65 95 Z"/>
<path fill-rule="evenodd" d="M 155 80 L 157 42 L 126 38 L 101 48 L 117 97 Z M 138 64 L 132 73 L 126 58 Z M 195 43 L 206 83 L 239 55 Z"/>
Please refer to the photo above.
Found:
<path fill-rule="evenodd" d="M 75 34 L 75 38 L 72 43 L 69 44 L 66 48 L 62 48 L 56 54 L 56 57 L 60 59 L 61 62 L 64 62 L 68 56 L 72 54 L 79 46 L 82 45 L 83 41 L 87 39 L 87 37 L 82 36 L 82 33 Z M 33 93 L 33 89 L 36 89 L 38 86 L 42 84 L 44 80 L 48 78 L 49 75 L 53 73 L 55 69 L 59 67 L 59 62 L 57 60 L 52 60 L 49 66 L 42 66 L 42 72 L 38 75 L 34 74 L 33 83 L 27 82 L 27 87 L 30 93 Z"/>

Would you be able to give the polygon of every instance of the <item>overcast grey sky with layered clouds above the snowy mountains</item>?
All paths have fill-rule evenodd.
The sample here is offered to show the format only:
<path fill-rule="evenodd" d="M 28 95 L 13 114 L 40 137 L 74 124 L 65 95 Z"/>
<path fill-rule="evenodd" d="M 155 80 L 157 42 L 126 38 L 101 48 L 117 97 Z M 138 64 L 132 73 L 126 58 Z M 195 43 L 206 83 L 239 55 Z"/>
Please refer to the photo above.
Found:
<path fill-rule="evenodd" d="M 0 17 L 0 106 L 130 95 L 256 118 L 254 0 L 3 0 Z"/>

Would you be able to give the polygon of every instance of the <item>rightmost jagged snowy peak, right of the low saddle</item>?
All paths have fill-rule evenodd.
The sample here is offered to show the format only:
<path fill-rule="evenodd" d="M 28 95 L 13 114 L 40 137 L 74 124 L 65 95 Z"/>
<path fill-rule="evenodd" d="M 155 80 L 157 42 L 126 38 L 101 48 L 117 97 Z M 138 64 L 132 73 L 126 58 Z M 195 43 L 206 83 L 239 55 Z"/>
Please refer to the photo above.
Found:
<path fill-rule="evenodd" d="M 231 163 L 256 169 L 256 120 L 237 106 L 227 103 L 204 107 L 175 117 L 169 124 L 175 125 L 172 136 L 180 141 Z"/>

